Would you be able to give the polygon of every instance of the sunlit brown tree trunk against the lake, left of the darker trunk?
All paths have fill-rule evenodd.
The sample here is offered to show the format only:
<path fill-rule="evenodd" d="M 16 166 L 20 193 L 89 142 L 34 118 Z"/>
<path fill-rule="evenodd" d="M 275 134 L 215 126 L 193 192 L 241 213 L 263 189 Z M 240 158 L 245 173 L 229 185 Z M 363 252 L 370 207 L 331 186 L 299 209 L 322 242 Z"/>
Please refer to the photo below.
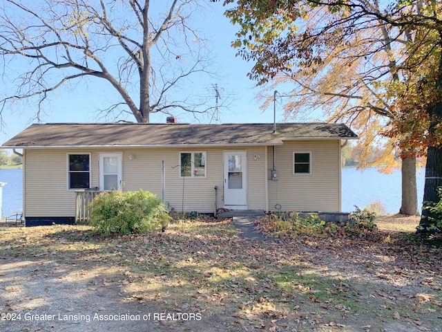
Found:
<path fill-rule="evenodd" d="M 402 205 L 399 213 L 408 216 L 418 214 L 416 187 L 416 156 L 402 159 Z"/>

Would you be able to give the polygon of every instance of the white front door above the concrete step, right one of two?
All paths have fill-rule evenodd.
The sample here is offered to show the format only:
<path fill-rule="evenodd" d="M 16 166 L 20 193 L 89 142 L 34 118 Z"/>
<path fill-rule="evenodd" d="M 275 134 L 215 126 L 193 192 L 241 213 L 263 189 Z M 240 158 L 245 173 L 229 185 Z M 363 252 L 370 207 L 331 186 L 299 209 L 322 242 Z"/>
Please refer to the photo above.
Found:
<path fill-rule="evenodd" d="M 247 151 L 224 151 L 224 207 L 247 209 Z"/>

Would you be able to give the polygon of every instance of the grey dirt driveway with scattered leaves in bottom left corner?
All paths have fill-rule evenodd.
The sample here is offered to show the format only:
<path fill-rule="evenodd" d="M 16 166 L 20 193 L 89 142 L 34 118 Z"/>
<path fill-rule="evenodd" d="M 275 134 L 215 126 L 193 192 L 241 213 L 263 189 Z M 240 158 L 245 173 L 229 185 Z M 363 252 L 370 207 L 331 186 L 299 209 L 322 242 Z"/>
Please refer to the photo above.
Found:
<path fill-rule="evenodd" d="M 58 259 L 57 252 L 32 256 L 0 257 L 0 331 L 222 331 L 201 313 L 168 315 L 134 301 L 122 267 Z"/>

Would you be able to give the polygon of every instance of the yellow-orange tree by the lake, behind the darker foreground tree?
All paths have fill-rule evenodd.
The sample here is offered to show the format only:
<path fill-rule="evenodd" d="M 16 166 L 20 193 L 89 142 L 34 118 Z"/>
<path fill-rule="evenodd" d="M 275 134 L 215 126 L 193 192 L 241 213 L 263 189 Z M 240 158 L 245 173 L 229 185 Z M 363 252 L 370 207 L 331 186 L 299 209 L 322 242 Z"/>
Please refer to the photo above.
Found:
<path fill-rule="evenodd" d="M 281 12 L 278 12 L 280 18 L 284 17 Z M 347 13 L 332 12 L 328 8 L 317 6 L 302 15 L 302 20 L 297 19 L 296 23 L 286 17 L 286 24 L 280 26 L 286 31 L 280 31 L 280 36 L 284 36 L 287 30 L 291 31 L 290 34 L 299 35 L 301 31 L 314 31 L 318 26 L 333 26 L 336 20 L 345 15 Z M 278 25 L 272 23 L 271 26 L 273 36 L 278 35 L 274 30 Z M 292 27 L 291 30 L 289 27 Z M 404 35 L 396 28 L 387 28 L 376 19 L 359 24 L 356 29 L 358 33 L 350 35 L 338 33 L 340 39 L 336 38 L 335 30 L 323 31 L 320 38 L 325 46 L 320 55 L 311 61 L 298 61 L 298 57 L 287 60 L 285 68 L 271 74 L 271 84 L 261 95 L 268 95 L 270 89 L 277 89 L 280 84 L 291 86 L 291 91 L 284 96 L 286 118 L 297 118 L 316 109 L 321 110 L 329 122 L 349 124 L 361 138 L 358 142 L 362 150 L 359 167 L 381 166 L 383 172 L 392 172 L 392 167 L 401 166 L 403 186 L 400 212 L 416 214 L 416 158 L 413 149 L 398 149 L 396 140 L 400 138 L 383 136 L 387 129 L 391 129 L 387 126 L 388 120 L 398 116 L 392 109 L 394 98 L 389 89 L 396 81 L 403 79 L 397 66 L 401 64 L 403 48 L 414 42 L 416 34 Z M 249 52 L 247 48 L 252 53 L 256 52 L 262 46 L 263 40 L 265 37 L 250 39 L 249 35 L 249 40 L 240 48 L 240 52 L 244 55 L 244 52 Z M 332 44 L 329 40 L 333 41 Z M 236 41 L 237 46 L 238 41 L 239 39 Z M 259 46 L 256 46 L 257 43 Z M 311 48 L 311 54 L 313 53 L 314 47 Z M 258 74 L 259 66 L 266 59 L 262 63 L 261 59 L 256 61 L 254 70 Z M 265 82 L 267 77 L 262 75 L 260 83 Z M 264 107 L 269 102 L 271 98 L 267 98 Z M 380 145 L 383 147 L 383 154 L 369 159 L 370 147 Z M 398 161 L 398 156 L 404 156 L 403 163 Z"/>

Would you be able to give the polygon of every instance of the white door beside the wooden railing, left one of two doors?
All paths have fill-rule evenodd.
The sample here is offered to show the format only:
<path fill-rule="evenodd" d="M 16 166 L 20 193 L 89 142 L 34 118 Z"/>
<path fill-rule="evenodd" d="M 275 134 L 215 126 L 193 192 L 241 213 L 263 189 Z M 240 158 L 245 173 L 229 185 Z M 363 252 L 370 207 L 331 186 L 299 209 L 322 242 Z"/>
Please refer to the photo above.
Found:
<path fill-rule="evenodd" d="M 99 190 L 122 189 L 122 154 L 99 154 Z"/>

